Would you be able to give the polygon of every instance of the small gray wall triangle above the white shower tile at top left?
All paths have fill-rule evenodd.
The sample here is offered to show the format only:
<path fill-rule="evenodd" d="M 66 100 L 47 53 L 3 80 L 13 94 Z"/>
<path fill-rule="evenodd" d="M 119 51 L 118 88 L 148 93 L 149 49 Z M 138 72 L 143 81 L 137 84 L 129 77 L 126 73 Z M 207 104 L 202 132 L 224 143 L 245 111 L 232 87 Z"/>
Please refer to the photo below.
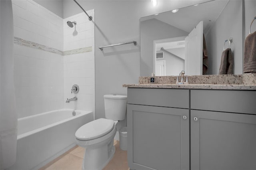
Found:
<path fill-rule="evenodd" d="M 63 0 L 34 0 L 44 8 L 63 18 Z"/>

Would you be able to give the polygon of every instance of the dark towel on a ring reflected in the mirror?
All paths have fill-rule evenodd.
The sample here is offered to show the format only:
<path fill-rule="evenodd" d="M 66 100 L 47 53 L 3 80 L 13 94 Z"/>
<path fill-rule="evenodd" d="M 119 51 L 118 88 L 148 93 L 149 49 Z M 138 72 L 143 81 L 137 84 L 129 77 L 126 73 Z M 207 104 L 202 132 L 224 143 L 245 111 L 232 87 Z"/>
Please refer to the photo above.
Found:
<path fill-rule="evenodd" d="M 230 48 L 222 52 L 219 74 L 234 74 L 234 59 Z"/>

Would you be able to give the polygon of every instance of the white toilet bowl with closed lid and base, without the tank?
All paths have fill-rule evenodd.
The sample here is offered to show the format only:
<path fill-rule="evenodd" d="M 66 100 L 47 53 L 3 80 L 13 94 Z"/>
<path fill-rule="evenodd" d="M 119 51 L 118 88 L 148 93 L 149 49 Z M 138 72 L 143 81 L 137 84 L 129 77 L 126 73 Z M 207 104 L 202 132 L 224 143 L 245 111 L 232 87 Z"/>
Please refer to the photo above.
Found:
<path fill-rule="evenodd" d="M 97 119 L 90 122 L 91 124 L 83 125 L 76 131 L 76 143 L 78 146 L 86 148 L 82 165 L 83 170 L 102 170 L 113 158 L 116 150 L 113 142 L 118 121 L 113 121 L 112 127 L 110 126 L 111 122 L 108 121 L 112 120 Z M 105 131 L 97 129 L 99 126 L 104 126 Z M 88 131 L 90 132 L 84 135 Z"/>

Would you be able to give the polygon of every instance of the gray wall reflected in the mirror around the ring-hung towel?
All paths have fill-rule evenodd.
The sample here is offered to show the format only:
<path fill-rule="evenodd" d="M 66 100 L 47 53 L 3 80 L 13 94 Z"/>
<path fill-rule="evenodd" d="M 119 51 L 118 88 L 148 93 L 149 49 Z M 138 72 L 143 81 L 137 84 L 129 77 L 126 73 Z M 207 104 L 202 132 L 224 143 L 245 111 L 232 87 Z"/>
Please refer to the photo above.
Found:
<path fill-rule="evenodd" d="M 242 1 L 230 0 L 220 14 L 219 18 L 210 28 L 210 31 L 205 34 L 209 54 L 208 74 L 218 74 L 224 41 L 229 38 L 233 38 L 230 48 L 234 58 L 234 74 L 242 74 L 242 23 Z M 225 49 L 227 47 L 228 42 L 225 44 Z"/>

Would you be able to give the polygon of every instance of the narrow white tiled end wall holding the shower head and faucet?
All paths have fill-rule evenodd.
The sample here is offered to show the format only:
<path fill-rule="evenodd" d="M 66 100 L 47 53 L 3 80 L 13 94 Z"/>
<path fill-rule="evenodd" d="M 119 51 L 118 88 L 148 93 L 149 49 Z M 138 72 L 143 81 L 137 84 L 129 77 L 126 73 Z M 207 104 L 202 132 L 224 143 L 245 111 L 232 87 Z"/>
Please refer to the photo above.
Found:
<path fill-rule="evenodd" d="M 64 99 L 76 96 L 77 102 L 65 103 L 65 108 L 90 110 L 95 113 L 94 69 L 94 10 L 64 19 Z M 70 28 L 67 21 L 76 21 Z M 65 52 L 66 51 L 66 52 Z M 69 51 L 70 55 L 66 55 Z M 85 53 L 79 53 L 84 51 Z M 79 85 L 79 93 L 71 94 L 72 85 Z"/>

